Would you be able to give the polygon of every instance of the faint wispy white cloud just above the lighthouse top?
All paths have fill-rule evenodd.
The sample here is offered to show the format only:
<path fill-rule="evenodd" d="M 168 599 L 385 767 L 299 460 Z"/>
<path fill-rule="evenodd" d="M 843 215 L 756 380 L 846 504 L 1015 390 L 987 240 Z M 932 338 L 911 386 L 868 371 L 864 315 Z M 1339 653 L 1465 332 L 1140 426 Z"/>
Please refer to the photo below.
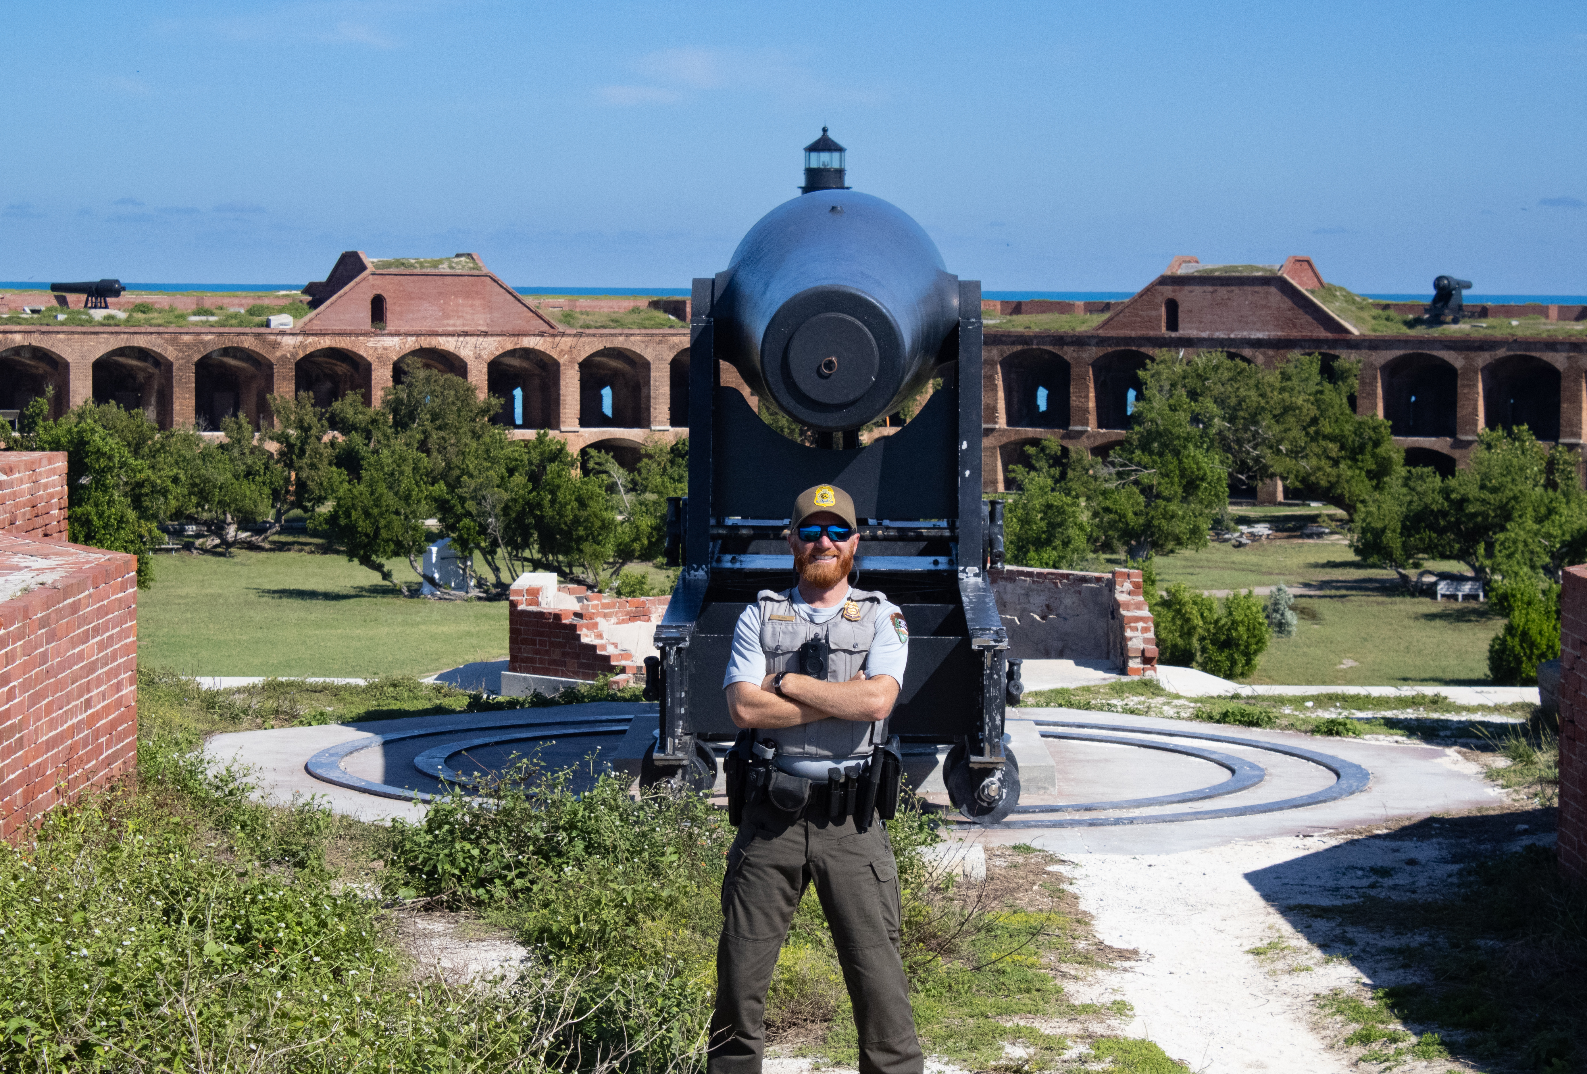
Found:
<path fill-rule="evenodd" d="M 601 86 L 608 105 L 676 105 L 695 95 L 730 90 L 805 105 L 876 105 L 878 89 L 843 84 L 779 49 L 678 48 L 646 52 L 633 62 L 641 84 Z"/>

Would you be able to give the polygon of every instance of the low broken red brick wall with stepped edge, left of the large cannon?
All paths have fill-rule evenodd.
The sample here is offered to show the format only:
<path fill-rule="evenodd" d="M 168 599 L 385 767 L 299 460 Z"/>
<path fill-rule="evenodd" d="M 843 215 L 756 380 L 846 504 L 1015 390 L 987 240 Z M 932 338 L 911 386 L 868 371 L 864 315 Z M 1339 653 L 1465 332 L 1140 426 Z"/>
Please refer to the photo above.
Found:
<path fill-rule="evenodd" d="M 582 585 L 559 585 L 574 608 L 543 608 L 538 587 L 517 584 L 508 606 L 508 671 L 594 682 L 611 674 L 611 685 L 643 682 L 640 658 L 608 641 L 606 623 L 657 623 L 670 596 L 609 596 Z"/>

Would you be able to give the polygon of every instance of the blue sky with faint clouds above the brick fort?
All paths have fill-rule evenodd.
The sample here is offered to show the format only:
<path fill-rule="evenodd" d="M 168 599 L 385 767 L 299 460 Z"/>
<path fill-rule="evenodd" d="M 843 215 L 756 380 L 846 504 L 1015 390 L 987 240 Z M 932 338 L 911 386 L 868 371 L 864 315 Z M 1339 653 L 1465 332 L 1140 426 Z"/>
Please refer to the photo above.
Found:
<path fill-rule="evenodd" d="M 59 21 L 8 49 L 0 279 L 305 282 L 363 249 L 687 287 L 795 195 L 827 124 L 851 182 L 990 290 L 1311 254 L 1365 292 L 1452 273 L 1587 293 L 1581 3 L 90 2 Z"/>

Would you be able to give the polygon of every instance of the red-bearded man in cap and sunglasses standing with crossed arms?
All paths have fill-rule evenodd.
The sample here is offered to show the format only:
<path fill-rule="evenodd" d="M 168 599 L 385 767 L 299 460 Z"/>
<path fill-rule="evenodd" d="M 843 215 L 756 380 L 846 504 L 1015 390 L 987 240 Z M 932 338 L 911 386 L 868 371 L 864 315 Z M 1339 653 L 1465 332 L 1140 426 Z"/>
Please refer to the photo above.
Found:
<path fill-rule="evenodd" d="M 882 593 L 849 587 L 857 546 L 846 492 L 801 492 L 789 527 L 798 585 L 762 590 L 733 631 L 727 708 L 754 739 L 763 792 L 747 800 L 727 855 L 709 1074 L 760 1071 L 767 987 L 811 884 L 854 1004 L 862 1074 L 924 1069 L 898 957 L 898 868 L 855 790 L 881 763 L 871 750 L 886 742 L 909 628 Z M 805 673 L 811 658 L 824 674 Z"/>

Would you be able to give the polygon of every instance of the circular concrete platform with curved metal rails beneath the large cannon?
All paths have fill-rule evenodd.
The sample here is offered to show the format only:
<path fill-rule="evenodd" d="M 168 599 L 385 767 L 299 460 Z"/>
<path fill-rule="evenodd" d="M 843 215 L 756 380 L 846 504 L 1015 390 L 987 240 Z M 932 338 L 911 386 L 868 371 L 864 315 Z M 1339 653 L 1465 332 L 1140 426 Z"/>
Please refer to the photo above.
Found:
<path fill-rule="evenodd" d="M 1151 828 L 1165 834 L 1147 841 L 1220 842 L 1495 801 L 1476 766 L 1438 746 L 1214 733 L 1205 723 L 1074 709 L 1019 709 L 1009 717 L 1011 728 L 1025 727 L 1016 733 L 1022 750 L 1036 742 L 1046 750 L 1055 793 L 1027 790 L 1005 823 L 981 828 L 989 836 L 1006 831 L 998 841 L 1036 828 L 1054 836 L 1092 830 L 1084 836 L 1090 844 L 1128 842 L 1146 836 L 1101 831 Z M 574 769 L 576 787 L 608 765 L 636 771 L 627 739 L 649 741 L 644 728 L 654 723 L 654 704 L 597 703 L 217 735 L 206 754 L 214 763 L 252 766 L 260 792 L 278 801 L 317 795 L 336 812 L 367 820 L 417 820 L 435 795 L 473 790 L 525 757 L 543 771 Z M 1024 768 L 1035 758 L 1022 760 Z M 946 795 L 933 790 L 941 785 L 933 771 L 940 763 L 930 747 L 906 755 L 911 782 L 946 807 Z"/>

